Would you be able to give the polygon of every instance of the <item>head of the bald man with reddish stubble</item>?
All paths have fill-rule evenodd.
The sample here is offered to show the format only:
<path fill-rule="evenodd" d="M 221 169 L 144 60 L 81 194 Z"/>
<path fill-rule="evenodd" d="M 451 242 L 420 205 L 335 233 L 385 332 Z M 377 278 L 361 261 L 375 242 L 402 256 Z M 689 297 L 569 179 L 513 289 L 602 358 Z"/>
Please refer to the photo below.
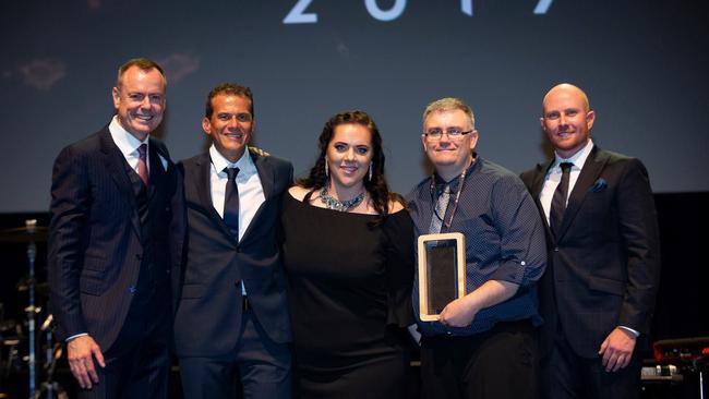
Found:
<path fill-rule="evenodd" d="M 543 101 L 542 130 L 562 158 L 569 158 L 586 146 L 596 120 L 580 88 L 562 84 L 552 88 Z"/>

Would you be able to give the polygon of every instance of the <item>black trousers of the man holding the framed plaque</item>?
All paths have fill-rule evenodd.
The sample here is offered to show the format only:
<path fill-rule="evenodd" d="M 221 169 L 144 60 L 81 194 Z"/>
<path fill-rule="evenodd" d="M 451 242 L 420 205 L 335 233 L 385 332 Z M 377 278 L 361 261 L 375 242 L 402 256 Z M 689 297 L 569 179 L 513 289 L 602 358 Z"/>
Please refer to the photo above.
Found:
<path fill-rule="evenodd" d="M 422 398 L 537 398 L 538 363 L 529 321 L 498 323 L 469 337 L 423 337 Z"/>

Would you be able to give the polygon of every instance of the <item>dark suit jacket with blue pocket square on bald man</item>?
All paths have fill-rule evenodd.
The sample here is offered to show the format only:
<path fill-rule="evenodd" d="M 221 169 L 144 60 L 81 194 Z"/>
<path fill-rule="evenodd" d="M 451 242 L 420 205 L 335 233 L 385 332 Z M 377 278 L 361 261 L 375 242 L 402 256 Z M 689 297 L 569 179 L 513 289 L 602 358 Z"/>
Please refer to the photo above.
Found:
<path fill-rule="evenodd" d="M 553 159 L 521 179 L 539 194 Z M 545 218 L 543 218 L 546 220 Z M 593 147 L 569 194 L 558 237 L 546 226 L 540 283 L 542 349 L 561 332 L 579 355 L 598 356 L 616 326 L 648 334 L 660 279 L 660 244 L 648 173 L 635 158 Z"/>

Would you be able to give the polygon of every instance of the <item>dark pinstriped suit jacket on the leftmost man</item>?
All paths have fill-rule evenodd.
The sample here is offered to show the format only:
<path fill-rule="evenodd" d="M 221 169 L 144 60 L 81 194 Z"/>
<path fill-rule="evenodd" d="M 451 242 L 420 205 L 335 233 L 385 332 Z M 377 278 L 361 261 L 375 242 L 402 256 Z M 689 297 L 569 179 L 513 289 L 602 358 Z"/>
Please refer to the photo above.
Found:
<path fill-rule="evenodd" d="M 165 211 L 171 215 L 182 207 L 177 170 L 163 143 L 151 137 L 149 145 L 168 161 L 164 188 L 171 203 Z M 145 250 L 127 168 L 105 126 L 62 149 L 52 173 L 48 279 L 57 335 L 64 340 L 88 332 L 104 351 L 127 323 Z M 171 246 L 155 249 L 169 252 L 168 273 L 179 268 L 183 237 L 177 223 L 171 231 Z"/>

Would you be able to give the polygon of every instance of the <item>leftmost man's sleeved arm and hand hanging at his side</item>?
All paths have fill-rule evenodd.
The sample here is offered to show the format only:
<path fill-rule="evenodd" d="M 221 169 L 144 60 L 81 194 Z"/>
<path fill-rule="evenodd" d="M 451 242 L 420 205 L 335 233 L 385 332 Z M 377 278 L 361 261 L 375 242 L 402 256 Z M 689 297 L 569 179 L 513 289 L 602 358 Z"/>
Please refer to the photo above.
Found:
<path fill-rule="evenodd" d="M 98 382 L 93 356 L 105 366 L 98 344 L 87 335 L 79 293 L 82 240 L 89 206 L 86 168 L 81 155 L 68 147 L 57 157 L 52 172 L 47 264 L 52 312 L 59 324 L 60 337 L 73 338 L 67 346 L 69 364 L 80 386 L 85 389 L 92 387 L 92 382 Z"/>

